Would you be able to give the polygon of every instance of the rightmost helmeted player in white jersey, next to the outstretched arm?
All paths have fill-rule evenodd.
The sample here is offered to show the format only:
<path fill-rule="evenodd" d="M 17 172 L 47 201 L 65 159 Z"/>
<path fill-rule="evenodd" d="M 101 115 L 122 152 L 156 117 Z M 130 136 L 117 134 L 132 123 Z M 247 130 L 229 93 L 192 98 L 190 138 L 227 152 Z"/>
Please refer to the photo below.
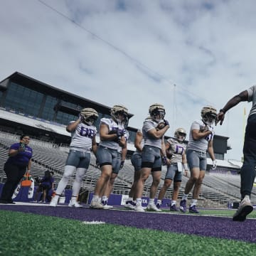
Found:
<path fill-rule="evenodd" d="M 213 151 L 213 123 L 216 120 L 217 112 L 215 107 L 206 106 L 201 110 L 201 120 L 196 120 L 191 124 L 189 132 L 188 146 L 186 149 L 186 158 L 191 171 L 191 176 L 188 179 L 183 197 L 180 202 L 180 210 L 186 213 L 186 201 L 188 193 L 193 188 L 190 213 L 199 213 L 196 209 L 196 203 L 203 183 L 203 178 L 206 174 L 206 151 L 213 161 L 213 169 L 216 168 L 216 160 Z"/>

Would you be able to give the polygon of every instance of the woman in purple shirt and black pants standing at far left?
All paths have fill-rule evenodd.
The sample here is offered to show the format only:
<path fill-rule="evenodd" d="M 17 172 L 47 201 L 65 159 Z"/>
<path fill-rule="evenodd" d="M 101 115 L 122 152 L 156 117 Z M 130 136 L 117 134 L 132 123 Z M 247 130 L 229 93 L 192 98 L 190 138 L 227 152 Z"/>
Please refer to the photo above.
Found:
<path fill-rule="evenodd" d="M 0 203 L 14 203 L 11 196 L 13 195 L 18 182 L 21 180 L 26 171 L 31 171 L 31 158 L 33 151 L 28 146 L 30 137 L 21 135 L 20 142 L 14 143 L 9 148 L 9 158 L 4 164 L 4 172 L 7 181 L 2 189 Z"/>

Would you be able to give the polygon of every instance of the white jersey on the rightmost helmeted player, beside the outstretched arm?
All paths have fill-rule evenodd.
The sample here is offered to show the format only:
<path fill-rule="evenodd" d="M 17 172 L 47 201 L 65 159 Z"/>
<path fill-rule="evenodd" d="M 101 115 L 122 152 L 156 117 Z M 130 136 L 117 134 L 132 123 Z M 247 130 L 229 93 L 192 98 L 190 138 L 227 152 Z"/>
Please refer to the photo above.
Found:
<path fill-rule="evenodd" d="M 194 140 L 192 137 L 193 129 L 202 130 L 204 127 L 206 127 L 206 124 L 204 124 L 202 120 L 196 120 L 191 124 L 187 149 L 192 149 L 196 151 L 206 151 L 208 149 L 208 142 L 210 142 L 210 140 L 213 140 L 214 133 L 209 134 L 208 136 L 198 140 Z M 208 128 L 213 131 L 213 127 L 208 126 Z"/>

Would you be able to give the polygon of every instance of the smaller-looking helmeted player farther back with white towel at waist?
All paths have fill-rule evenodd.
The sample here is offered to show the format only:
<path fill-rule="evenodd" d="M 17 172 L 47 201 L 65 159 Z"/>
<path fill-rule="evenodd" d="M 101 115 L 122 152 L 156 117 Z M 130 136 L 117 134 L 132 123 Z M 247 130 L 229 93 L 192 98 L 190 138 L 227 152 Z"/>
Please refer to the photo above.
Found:
<path fill-rule="evenodd" d="M 166 156 L 167 156 L 167 171 L 164 178 L 164 186 L 159 191 L 159 197 L 157 199 L 156 207 L 160 208 L 161 201 L 164 195 L 171 186 L 171 182 L 174 181 L 174 191 L 171 197 L 171 211 L 177 211 L 176 202 L 178 199 L 178 191 L 181 186 L 181 180 L 183 175 L 183 169 L 185 170 L 185 176 L 188 176 L 188 164 L 186 161 L 186 130 L 178 128 L 174 132 L 174 139 L 167 139 L 166 142 Z"/>

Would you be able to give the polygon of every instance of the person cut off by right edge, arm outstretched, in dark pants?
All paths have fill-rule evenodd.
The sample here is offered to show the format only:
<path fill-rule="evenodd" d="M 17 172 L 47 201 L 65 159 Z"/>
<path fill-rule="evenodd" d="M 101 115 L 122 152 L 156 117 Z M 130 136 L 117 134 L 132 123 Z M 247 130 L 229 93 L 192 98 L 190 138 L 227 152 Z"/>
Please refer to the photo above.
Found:
<path fill-rule="evenodd" d="M 244 221 L 246 216 L 252 212 L 253 206 L 250 201 L 253 183 L 255 181 L 255 166 L 256 166 L 256 85 L 240 92 L 238 95 L 232 97 L 225 104 L 223 109 L 217 115 L 220 125 L 225 118 L 225 112 L 235 107 L 240 102 L 252 102 L 249 117 L 247 118 L 247 125 L 245 129 L 245 142 L 243 145 L 243 163 L 240 172 L 241 175 L 241 202 L 238 210 L 233 215 L 234 221 Z M 216 122 L 216 124 L 218 123 Z"/>

